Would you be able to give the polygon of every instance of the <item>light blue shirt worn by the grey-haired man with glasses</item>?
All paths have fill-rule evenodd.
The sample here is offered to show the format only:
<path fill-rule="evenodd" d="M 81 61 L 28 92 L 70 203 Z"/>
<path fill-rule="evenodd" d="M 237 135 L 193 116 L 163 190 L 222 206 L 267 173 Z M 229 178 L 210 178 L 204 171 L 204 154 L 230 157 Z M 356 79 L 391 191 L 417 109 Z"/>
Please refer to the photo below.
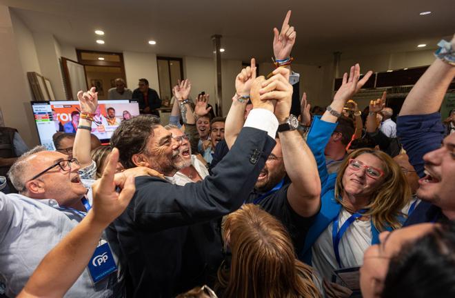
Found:
<path fill-rule="evenodd" d="M 54 199 L 30 199 L 0 192 L 0 293 L 15 297 L 43 257 L 83 218 L 60 210 Z M 93 286 L 84 270 L 65 297 L 113 297 L 117 275 Z"/>

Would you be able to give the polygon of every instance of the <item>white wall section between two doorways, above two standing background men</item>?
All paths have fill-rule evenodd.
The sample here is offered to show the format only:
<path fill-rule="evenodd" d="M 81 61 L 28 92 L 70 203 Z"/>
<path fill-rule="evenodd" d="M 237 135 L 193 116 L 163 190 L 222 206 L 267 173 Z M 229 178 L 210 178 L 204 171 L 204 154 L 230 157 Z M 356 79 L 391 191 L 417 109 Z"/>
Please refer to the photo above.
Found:
<path fill-rule="evenodd" d="M 125 63 L 126 83 L 128 88 L 137 88 L 139 79 L 148 79 L 149 87 L 159 94 L 158 66 L 156 54 L 143 52 L 123 52 Z"/>

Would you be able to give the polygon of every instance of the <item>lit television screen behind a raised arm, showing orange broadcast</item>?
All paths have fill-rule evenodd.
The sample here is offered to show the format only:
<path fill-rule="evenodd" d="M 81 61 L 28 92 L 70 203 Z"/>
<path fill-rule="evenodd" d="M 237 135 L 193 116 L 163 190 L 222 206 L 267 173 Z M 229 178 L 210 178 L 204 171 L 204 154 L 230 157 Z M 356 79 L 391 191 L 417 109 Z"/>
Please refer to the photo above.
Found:
<path fill-rule="evenodd" d="M 32 101 L 34 122 L 39 141 L 48 150 L 55 150 L 52 135 L 55 132 L 76 132 L 79 123 L 79 101 Z M 139 115 L 137 101 L 98 101 L 97 115 L 92 121 L 92 134 L 101 143 L 108 143 L 121 121 Z"/>

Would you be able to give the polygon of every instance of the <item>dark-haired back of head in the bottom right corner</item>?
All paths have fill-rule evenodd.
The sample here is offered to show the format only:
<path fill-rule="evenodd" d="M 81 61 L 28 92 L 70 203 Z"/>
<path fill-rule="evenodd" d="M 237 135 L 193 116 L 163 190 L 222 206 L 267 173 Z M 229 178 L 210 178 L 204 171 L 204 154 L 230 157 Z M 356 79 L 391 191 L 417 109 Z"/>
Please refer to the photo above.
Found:
<path fill-rule="evenodd" d="M 401 248 L 390 259 L 381 297 L 455 297 L 455 222 Z"/>

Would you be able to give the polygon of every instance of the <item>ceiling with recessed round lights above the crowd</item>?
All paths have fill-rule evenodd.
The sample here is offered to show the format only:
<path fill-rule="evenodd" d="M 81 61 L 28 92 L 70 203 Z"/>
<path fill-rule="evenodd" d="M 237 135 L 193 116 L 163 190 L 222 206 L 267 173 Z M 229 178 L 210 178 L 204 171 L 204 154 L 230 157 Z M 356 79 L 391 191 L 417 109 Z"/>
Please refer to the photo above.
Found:
<path fill-rule="evenodd" d="M 455 32 L 454 0 L 0 0 L 29 28 L 52 32 L 76 48 L 211 57 L 213 34 L 223 35 L 226 59 L 270 61 L 272 28 L 288 9 L 298 63 L 434 48 Z M 419 12 L 432 11 L 420 16 Z M 95 43 L 104 30 L 104 45 Z M 155 46 L 148 45 L 153 39 Z M 425 48 L 423 48 L 425 49 Z"/>

